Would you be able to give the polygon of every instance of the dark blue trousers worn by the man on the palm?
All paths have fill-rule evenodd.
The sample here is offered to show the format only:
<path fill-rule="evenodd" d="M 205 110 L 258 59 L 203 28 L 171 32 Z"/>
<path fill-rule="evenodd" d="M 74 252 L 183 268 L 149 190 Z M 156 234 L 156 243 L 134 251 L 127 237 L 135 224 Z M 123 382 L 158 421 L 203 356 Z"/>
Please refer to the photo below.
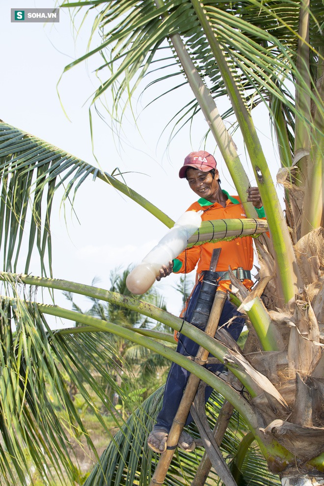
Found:
<path fill-rule="evenodd" d="M 190 322 L 190 318 L 192 316 L 192 312 L 195 306 L 195 300 L 197 299 L 199 293 L 200 285 L 201 283 L 198 282 L 191 295 L 187 311 L 184 315 L 185 321 Z M 224 325 L 224 328 L 230 333 L 235 341 L 237 341 L 243 329 L 244 318 L 229 300 L 225 300 L 225 305 L 221 313 L 218 325 L 222 326 L 234 316 L 237 316 L 236 319 L 234 319 L 229 326 Z M 184 356 L 196 356 L 198 348 L 199 345 L 197 343 L 191 341 L 191 339 L 189 339 L 187 336 L 180 334 L 177 352 L 180 352 L 180 354 L 183 354 Z M 210 356 L 212 355 L 210 354 Z M 213 373 L 218 374 L 223 371 L 224 365 L 221 363 L 207 364 L 206 368 Z M 167 431 L 170 430 L 173 419 L 181 402 L 189 375 L 190 373 L 188 370 L 185 370 L 176 363 L 172 363 L 165 383 L 162 409 L 158 414 L 155 428 L 163 428 Z M 212 391 L 213 388 L 211 386 L 206 386 L 205 403 L 211 396 Z M 189 413 L 186 425 L 190 424 L 191 422 L 192 417 Z"/>

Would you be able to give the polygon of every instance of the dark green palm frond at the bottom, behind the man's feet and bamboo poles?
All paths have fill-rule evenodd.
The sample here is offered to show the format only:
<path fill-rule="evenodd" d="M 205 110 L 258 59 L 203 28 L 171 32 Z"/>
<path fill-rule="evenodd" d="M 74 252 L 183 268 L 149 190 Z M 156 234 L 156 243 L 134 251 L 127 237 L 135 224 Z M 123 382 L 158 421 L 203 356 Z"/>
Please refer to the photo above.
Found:
<path fill-rule="evenodd" d="M 141 486 L 149 485 L 153 475 L 159 455 L 152 452 L 147 444 L 148 433 L 152 430 L 158 410 L 160 410 L 163 399 L 163 388 L 159 388 L 155 393 L 148 397 L 143 404 L 127 420 L 128 431 L 117 432 L 114 442 L 100 458 L 100 462 L 94 467 L 90 476 L 85 482 L 85 486 L 100 485 L 105 486 Z M 214 427 L 216 419 L 223 403 L 220 395 L 213 393 L 207 408 L 211 427 Z M 189 426 L 189 432 L 194 437 L 199 437 L 194 425 Z M 234 414 L 230 420 L 226 435 L 222 442 L 221 450 L 224 457 L 229 461 L 235 458 L 235 452 L 246 433 L 246 426 L 238 414 Z M 196 449 L 188 453 L 178 449 L 174 455 L 165 484 L 168 486 L 189 485 L 193 479 L 196 468 L 201 461 L 202 449 Z M 256 476 L 256 464 L 259 463 L 260 470 L 265 471 L 263 477 Z M 249 456 L 243 463 L 242 476 L 246 484 L 251 486 L 270 486 L 280 484 L 279 478 L 267 471 L 267 463 L 257 448 L 253 445 L 249 451 Z M 206 485 L 218 484 L 215 472 L 208 478 Z"/>

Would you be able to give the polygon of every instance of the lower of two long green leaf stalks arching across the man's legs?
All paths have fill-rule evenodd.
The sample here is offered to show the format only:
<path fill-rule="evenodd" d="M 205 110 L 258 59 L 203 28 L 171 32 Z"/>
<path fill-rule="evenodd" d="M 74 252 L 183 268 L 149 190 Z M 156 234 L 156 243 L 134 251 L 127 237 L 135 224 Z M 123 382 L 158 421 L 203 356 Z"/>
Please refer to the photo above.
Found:
<path fill-rule="evenodd" d="M 10 305 L 15 305 L 16 303 L 15 299 L 12 298 L 8 299 L 7 297 L 4 297 L 4 301 L 9 302 Z M 257 424 L 255 423 L 255 415 L 253 409 L 248 405 L 248 403 L 243 399 L 243 397 L 237 391 L 235 391 L 231 386 L 229 386 L 222 379 L 216 377 L 213 373 L 208 371 L 206 368 L 203 368 L 199 364 L 196 364 L 195 362 L 188 360 L 188 358 L 186 358 L 185 356 L 182 356 L 176 351 L 173 351 L 172 349 L 158 342 L 155 342 L 152 339 L 147 338 L 146 336 L 141 336 L 137 334 L 135 331 L 131 329 L 127 329 L 125 327 L 113 323 L 108 323 L 107 321 L 103 321 L 88 315 L 80 314 L 75 311 L 64 309 L 59 306 L 39 304 L 39 303 L 37 304 L 35 303 L 32 305 L 36 305 L 38 311 L 41 314 L 44 313 L 44 314 L 49 314 L 52 316 L 68 319 L 74 322 L 85 324 L 86 326 L 90 325 L 91 327 L 96 327 L 98 331 L 111 332 L 113 334 L 122 336 L 123 338 L 129 339 L 132 342 L 140 344 L 141 346 L 144 346 L 152 351 L 158 352 L 162 356 L 167 357 L 168 359 L 174 361 L 175 363 L 187 369 L 193 375 L 203 380 L 208 385 L 212 386 L 216 391 L 221 393 L 221 395 L 226 400 L 228 400 L 235 406 L 235 408 L 239 411 L 239 413 L 243 415 L 251 432 L 255 434 L 256 440 L 259 443 L 259 447 L 261 448 L 266 458 L 270 458 L 274 454 L 277 457 L 281 457 L 282 460 L 284 459 L 288 460 L 289 458 L 293 460 L 293 457 L 290 456 L 289 452 L 284 448 L 282 448 L 282 446 L 280 446 L 280 444 L 278 444 L 275 440 L 270 439 L 265 441 L 264 437 L 262 436 L 262 432 L 259 431 L 259 426 L 257 426 Z M 181 320 L 179 319 L 179 321 Z M 182 328 L 182 332 L 184 334 L 188 332 L 188 334 L 190 334 L 195 341 L 198 342 L 196 337 L 198 334 L 200 334 L 201 337 L 204 336 L 204 338 L 206 340 L 208 339 L 210 343 L 213 343 L 213 341 L 215 341 L 210 336 L 205 335 L 203 331 L 194 328 L 192 324 L 189 323 L 185 323 L 185 324 L 187 324 L 188 328 L 191 327 L 193 329 L 190 332 L 187 326 L 184 325 Z M 78 327 L 77 331 L 74 331 L 74 334 L 76 333 L 82 334 L 83 328 Z M 55 336 L 56 334 L 58 336 L 63 336 L 69 334 L 69 330 L 64 329 L 64 330 L 54 331 L 53 335 Z M 206 347 L 206 344 L 202 343 L 203 341 L 202 339 L 199 341 L 201 341 L 201 344 L 206 350 L 210 351 L 211 346 Z M 227 350 L 225 349 L 224 352 L 226 351 Z M 216 354 L 215 351 L 213 351 L 213 354 Z M 237 373 L 236 370 L 233 371 Z"/>

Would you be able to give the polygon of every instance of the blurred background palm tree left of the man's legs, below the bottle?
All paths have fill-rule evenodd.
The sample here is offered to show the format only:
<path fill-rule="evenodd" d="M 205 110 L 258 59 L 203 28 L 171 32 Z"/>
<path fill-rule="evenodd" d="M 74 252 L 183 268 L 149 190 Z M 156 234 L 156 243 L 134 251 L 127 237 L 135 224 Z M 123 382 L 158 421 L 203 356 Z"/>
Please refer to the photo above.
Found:
<path fill-rule="evenodd" d="M 111 286 L 109 291 L 118 292 L 122 295 L 131 295 L 126 286 L 126 278 L 131 270 L 132 268 L 127 268 L 126 270 L 115 269 L 111 271 Z M 92 285 L 95 283 L 96 279 L 92 281 Z M 161 333 L 169 333 L 166 326 L 143 316 L 139 312 L 122 308 L 114 303 L 101 301 L 98 298 L 90 297 L 89 300 L 92 303 L 92 306 L 90 309 L 82 311 L 74 301 L 71 292 L 66 292 L 64 294 L 68 300 L 71 301 L 73 310 L 81 312 L 82 314 L 94 316 L 103 321 L 113 322 L 123 327 L 152 329 Z M 166 310 L 164 299 L 156 289 L 151 288 L 145 296 L 138 296 L 138 298 L 145 299 L 146 302 L 150 302 L 151 304 Z M 79 323 L 76 323 L 76 325 L 78 326 Z M 107 363 L 107 373 L 114 377 L 118 389 L 124 387 L 126 393 L 126 388 L 132 386 L 133 379 L 130 383 L 128 382 L 130 376 L 129 370 L 132 370 L 132 375 L 134 375 L 136 379 L 137 386 L 141 391 L 143 398 L 146 398 L 157 388 L 157 386 L 162 384 L 163 375 L 168 367 L 168 360 L 163 358 L 160 354 L 154 353 L 142 346 L 138 346 L 121 336 L 111 334 L 108 336 L 108 340 L 111 349 L 115 349 L 115 353 Z M 82 360 L 81 354 L 80 359 Z M 91 362 L 89 362 L 89 366 L 91 367 Z M 126 369 L 124 369 L 125 367 Z M 102 378 L 98 376 L 97 379 L 101 380 Z M 112 410 L 119 409 L 122 405 L 120 402 L 122 397 L 119 396 L 116 388 L 111 387 L 110 382 L 103 382 L 102 386 L 105 387 L 106 394 L 110 397 Z M 124 395 L 124 393 L 122 395 Z"/>

